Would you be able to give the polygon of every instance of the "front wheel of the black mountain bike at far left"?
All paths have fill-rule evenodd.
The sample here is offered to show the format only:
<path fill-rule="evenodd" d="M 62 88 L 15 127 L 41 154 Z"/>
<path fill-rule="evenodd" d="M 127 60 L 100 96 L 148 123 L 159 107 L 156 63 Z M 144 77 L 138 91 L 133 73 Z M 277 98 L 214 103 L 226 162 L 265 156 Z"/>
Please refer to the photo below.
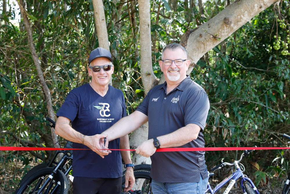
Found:
<path fill-rule="evenodd" d="M 35 172 L 34 175 L 24 180 L 22 184 L 19 185 L 15 194 L 35 194 L 38 193 L 39 188 L 43 185 L 44 181 L 48 179 L 48 176 L 52 173 L 53 168 L 47 167 L 39 169 Z M 68 193 L 68 179 L 66 175 L 60 170 L 57 170 L 55 176 L 47 184 L 46 188 L 43 190 L 43 193 L 57 193 L 57 194 L 67 194 Z"/>

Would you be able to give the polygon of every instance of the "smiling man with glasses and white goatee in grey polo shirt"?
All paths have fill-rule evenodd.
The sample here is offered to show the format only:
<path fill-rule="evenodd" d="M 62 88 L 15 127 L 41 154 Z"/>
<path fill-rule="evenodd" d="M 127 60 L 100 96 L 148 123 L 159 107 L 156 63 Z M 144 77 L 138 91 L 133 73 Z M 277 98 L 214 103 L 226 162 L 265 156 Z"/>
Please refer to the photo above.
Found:
<path fill-rule="evenodd" d="M 148 140 L 137 147 L 136 153 L 151 156 L 150 176 L 154 194 L 204 193 L 207 187 L 203 151 L 155 153 L 157 148 L 204 147 L 202 131 L 209 111 L 209 99 L 204 89 L 186 75 L 189 64 L 183 46 L 167 45 L 159 61 L 166 82 L 152 88 L 135 112 L 102 133 L 108 134 L 111 141 L 148 121 Z"/>

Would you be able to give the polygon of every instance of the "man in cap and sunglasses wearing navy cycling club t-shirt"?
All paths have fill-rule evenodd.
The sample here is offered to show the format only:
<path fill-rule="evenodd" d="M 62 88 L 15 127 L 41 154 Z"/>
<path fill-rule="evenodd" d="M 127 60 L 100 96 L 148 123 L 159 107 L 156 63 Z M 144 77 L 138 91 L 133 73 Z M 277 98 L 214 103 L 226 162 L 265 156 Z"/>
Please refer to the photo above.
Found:
<path fill-rule="evenodd" d="M 100 47 L 94 49 L 88 64 L 92 81 L 71 90 L 57 112 L 55 133 L 72 141 L 73 148 L 84 149 L 73 150 L 75 194 L 121 193 L 121 155 L 125 164 L 128 164 L 126 167 L 129 166 L 126 169 L 124 191 L 130 190 L 135 182 L 130 151 L 105 151 L 111 154 L 104 158 L 102 150 L 96 146 L 107 137 L 99 134 L 126 116 L 123 92 L 109 85 L 114 72 L 112 63 L 110 51 Z M 102 148 L 129 149 L 128 135 L 120 136 Z"/>

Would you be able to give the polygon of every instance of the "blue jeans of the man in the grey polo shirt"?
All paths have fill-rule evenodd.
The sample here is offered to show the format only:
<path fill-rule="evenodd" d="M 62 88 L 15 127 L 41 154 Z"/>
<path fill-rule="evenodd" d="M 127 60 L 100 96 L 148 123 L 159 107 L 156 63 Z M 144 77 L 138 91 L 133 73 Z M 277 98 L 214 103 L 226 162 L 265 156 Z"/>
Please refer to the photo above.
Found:
<path fill-rule="evenodd" d="M 200 181 L 197 183 L 162 183 L 152 179 L 151 187 L 153 194 L 164 193 L 190 193 L 190 194 L 204 194 L 207 188 L 209 177 L 202 179 L 200 175 Z"/>

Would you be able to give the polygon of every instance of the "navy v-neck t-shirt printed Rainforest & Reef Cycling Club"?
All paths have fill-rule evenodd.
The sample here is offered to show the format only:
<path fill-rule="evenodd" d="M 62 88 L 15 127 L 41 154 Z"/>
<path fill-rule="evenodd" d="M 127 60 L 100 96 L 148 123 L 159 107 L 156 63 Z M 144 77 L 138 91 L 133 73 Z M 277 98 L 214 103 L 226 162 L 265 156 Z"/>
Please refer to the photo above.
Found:
<path fill-rule="evenodd" d="M 57 116 L 71 120 L 72 127 L 81 134 L 101 134 L 126 116 L 124 94 L 109 85 L 107 94 L 100 96 L 89 83 L 70 91 Z M 119 149 L 120 139 L 110 141 L 109 149 Z M 73 148 L 88 149 L 81 143 Z M 73 150 L 73 176 L 92 178 L 118 178 L 122 176 L 120 151 L 112 151 L 101 158 L 92 150 Z"/>

